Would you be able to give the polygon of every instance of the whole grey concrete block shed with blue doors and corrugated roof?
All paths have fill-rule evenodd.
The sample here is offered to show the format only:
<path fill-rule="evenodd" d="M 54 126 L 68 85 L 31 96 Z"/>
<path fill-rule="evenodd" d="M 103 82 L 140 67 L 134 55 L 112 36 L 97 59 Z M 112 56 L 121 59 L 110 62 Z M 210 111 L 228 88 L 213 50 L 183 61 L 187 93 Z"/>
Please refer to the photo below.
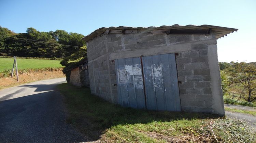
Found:
<path fill-rule="evenodd" d="M 237 30 L 99 28 L 83 38 L 91 93 L 124 107 L 224 115 L 217 39 Z"/>

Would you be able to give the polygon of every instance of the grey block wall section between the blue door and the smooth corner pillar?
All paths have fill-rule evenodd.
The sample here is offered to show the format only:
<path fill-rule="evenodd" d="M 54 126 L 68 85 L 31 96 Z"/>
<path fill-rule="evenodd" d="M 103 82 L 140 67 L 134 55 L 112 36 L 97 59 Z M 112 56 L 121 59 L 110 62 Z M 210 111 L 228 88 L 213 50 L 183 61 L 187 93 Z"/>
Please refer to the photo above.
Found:
<path fill-rule="evenodd" d="M 176 54 L 183 111 L 213 112 L 207 50 L 207 44 L 196 44 L 191 46 L 191 51 Z"/>

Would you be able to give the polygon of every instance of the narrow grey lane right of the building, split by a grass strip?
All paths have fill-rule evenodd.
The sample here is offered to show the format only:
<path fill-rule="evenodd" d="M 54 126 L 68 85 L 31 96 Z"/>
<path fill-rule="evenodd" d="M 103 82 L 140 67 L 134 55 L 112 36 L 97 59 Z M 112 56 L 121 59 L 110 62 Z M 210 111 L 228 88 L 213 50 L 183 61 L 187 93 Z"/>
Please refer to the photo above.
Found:
<path fill-rule="evenodd" d="M 224 106 L 228 107 L 228 108 L 233 108 L 233 109 L 255 111 L 255 108 L 253 108 L 253 107 L 246 107 L 246 106 L 239 106 L 239 105 L 228 105 L 228 104 L 224 104 Z M 226 114 L 226 116 L 229 116 L 229 117 L 236 117 L 236 118 L 244 120 L 254 131 L 256 131 L 256 116 L 243 114 L 243 113 L 237 113 L 237 112 L 230 112 L 230 111 L 225 111 L 225 114 Z"/>

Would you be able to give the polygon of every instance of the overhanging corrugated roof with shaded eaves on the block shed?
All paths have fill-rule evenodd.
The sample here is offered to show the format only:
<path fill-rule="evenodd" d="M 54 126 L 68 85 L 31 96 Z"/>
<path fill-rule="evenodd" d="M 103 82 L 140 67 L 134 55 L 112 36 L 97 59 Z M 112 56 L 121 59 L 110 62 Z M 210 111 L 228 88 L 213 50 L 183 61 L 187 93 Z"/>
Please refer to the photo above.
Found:
<path fill-rule="evenodd" d="M 237 31 L 235 28 L 227 28 L 220 26 L 212 26 L 212 25 L 173 25 L 173 26 L 160 26 L 160 27 L 109 27 L 109 28 L 99 28 L 89 35 L 82 38 L 84 41 L 88 42 L 96 37 L 99 37 L 103 34 L 135 34 L 135 33 L 144 33 L 144 34 L 210 34 L 211 31 L 214 31 L 215 38 L 221 38 L 227 36 L 227 34 Z"/>

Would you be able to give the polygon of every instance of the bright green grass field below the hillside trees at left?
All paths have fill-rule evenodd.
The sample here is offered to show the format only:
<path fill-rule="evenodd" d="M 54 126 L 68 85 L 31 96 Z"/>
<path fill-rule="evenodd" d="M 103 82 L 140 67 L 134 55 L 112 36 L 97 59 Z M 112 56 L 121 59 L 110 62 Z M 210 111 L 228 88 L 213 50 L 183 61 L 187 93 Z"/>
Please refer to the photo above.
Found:
<path fill-rule="evenodd" d="M 12 69 L 14 59 L 0 58 L 0 72 Z M 57 60 L 17 59 L 18 69 L 63 67 Z"/>

